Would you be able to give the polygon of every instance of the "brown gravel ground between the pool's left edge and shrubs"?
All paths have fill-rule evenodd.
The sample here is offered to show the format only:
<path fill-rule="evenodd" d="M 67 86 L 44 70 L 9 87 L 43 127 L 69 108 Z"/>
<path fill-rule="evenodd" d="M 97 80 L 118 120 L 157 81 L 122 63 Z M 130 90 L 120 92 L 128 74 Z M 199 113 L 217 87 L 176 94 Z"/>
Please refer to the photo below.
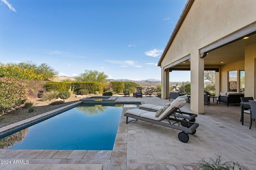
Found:
<path fill-rule="evenodd" d="M 86 97 L 88 97 L 88 95 Z M 33 112 L 29 113 L 28 109 L 20 108 L 20 109 L 12 110 L 8 113 L 5 113 L 4 115 L 0 115 L 0 127 L 4 127 L 12 123 L 16 123 L 18 121 L 22 121 L 30 117 L 34 117 L 42 113 L 46 113 L 47 111 L 51 111 L 59 107 L 72 104 L 74 102 L 77 102 L 80 99 L 81 97 L 73 94 L 70 98 L 66 99 L 63 104 L 59 104 L 59 105 L 49 105 L 51 102 L 54 102 L 55 100 L 41 101 L 40 98 L 30 99 L 28 101 L 31 101 L 34 103 Z"/>

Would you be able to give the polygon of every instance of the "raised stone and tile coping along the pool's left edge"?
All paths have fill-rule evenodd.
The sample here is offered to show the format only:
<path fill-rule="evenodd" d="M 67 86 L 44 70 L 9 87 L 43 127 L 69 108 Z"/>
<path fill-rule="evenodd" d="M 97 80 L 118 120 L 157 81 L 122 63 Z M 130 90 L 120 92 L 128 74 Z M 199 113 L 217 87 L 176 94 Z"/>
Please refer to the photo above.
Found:
<path fill-rule="evenodd" d="M 42 113 L 40 115 L 36 115 L 34 117 L 30 117 L 30 118 L 22 120 L 22 121 L 18 121 L 16 123 L 11 124 L 11 125 L 1 127 L 0 128 L 0 139 L 3 138 L 3 137 L 6 137 L 8 135 L 11 135 L 14 131 L 20 131 L 21 129 L 32 126 L 36 123 L 39 123 L 40 121 L 44 121 L 46 119 L 49 119 L 50 117 L 58 115 L 58 114 L 60 114 L 64 111 L 67 111 L 67 110 L 69 110 L 73 107 L 79 106 L 82 103 L 83 103 L 82 101 L 75 102 L 73 104 L 69 104 L 67 106 L 63 106 L 63 107 L 60 107 L 58 109 L 48 111 L 46 113 Z"/>

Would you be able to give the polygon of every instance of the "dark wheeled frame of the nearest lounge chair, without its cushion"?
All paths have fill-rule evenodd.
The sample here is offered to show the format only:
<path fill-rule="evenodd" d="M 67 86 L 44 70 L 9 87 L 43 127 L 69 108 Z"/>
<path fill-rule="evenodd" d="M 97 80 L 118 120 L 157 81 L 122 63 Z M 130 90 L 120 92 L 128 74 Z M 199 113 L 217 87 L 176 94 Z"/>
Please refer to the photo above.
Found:
<path fill-rule="evenodd" d="M 199 126 L 199 124 L 194 123 L 192 121 L 177 119 L 177 117 L 175 115 L 174 115 L 174 118 L 170 117 L 178 109 L 179 109 L 178 107 L 172 108 L 172 110 L 168 114 L 166 114 L 165 117 L 160 119 L 159 121 L 154 120 L 154 119 L 149 119 L 149 118 L 146 118 L 146 117 L 140 117 L 140 116 L 133 115 L 133 114 L 130 114 L 130 113 L 125 113 L 124 116 L 126 116 L 126 124 L 130 123 L 131 121 L 142 120 L 142 121 L 146 121 L 146 122 L 153 123 L 153 124 L 156 124 L 156 125 L 161 125 L 161 126 L 165 126 L 165 127 L 169 127 L 169 128 L 172 128 L 172 129 L 177 129 L 179 131 L 182 131 L 178 134 L 178 138 L 180 139 L 181 142 L 187 143 L 188 140 L 189 140 L 188 134 L 194 135 L 196 133 L 196 128 Z M 128 121 L 128 117 L 134 118 L 134 120 Z M 168 123 L 163 122 L 164 119 L 167 119 Z M 174 123 L 171 123 L 170 121 L 174 121 Z M 176 125 L 176 123 L 178 123 L 178 125 Z M 180 126 L 180 123 L 186 124 L 187 126 L 186 127 Z"/>

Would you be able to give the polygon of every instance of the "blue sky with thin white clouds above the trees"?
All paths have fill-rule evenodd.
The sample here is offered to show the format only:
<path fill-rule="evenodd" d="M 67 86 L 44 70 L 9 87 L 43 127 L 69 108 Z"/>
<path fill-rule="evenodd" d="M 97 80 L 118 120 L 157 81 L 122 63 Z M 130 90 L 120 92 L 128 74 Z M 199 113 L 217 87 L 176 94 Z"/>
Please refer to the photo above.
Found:
<path fill-rule="evenodd" d="M 0 63 L 46 63 L 59 75 L 161 79 L 157 66 L 187 0 L 0 0 Z M 171 72 L 170 81 L 190 73 Z"/>

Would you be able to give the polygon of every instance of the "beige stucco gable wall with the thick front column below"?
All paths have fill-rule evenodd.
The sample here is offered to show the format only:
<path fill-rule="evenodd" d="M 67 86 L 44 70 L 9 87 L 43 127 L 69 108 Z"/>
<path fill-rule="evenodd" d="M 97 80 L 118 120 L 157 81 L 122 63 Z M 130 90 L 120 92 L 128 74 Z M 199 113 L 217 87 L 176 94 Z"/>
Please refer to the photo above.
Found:
<path fill-rule="evenodd" d="M 201 101 L 203 96 L 202 68 L 196 68 L 204 63 L 198 59 L 199 49 L 255 22 L 255 7 L 256 0 L 195 0 L 192 4 L 162 60 L 161 68 L 164 69 L 164 66 L 190 55 L 191 63 L 193 63 L 191 66 L 193 100 L 191 99 L 190 106 L 195 113 L 202 113 L 204 110 L 204 103 Z M 220 77 L 220 84 L 222 84 L 224 78 Z"/>

